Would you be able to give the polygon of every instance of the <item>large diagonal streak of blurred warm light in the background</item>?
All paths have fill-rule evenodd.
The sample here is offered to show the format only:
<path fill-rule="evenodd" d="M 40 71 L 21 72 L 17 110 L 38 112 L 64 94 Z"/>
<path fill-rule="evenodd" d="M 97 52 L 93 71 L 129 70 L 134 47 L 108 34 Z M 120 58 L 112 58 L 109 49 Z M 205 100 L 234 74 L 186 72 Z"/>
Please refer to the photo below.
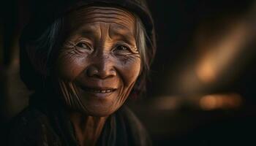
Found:
<path fill-rule="evenodd" d="M 197 77 L 206 83 L 216 81 L 240 55 L 241 50 L 244 50 L 244 44 L 250 35 L 250 28 L 241 21 L 234 25 L 226 36 L 220 36 L 219 40 L 212 40 L 214 43 L 202 46 L 202 49 L 207 51 L 196 66 Z"/>

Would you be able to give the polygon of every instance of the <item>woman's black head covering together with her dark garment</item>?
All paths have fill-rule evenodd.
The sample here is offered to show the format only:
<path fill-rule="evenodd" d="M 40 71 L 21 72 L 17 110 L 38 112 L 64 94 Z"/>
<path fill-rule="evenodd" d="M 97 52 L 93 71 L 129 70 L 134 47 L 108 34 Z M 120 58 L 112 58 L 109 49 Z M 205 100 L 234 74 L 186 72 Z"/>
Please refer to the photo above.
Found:
<path fill-rule="evenodd" d="M 27 47 L 34 46 L 36 40 L 41 37 L 46 28 L 52 25 L 54 20 L 79 7 L 104 4 L 121 7 L 138 15 L 146 30 L 148 65 L 154 58 L 156 50 L 154 23 L 145 0 L 39 0 L 34 3 L 36 4 L 31 4 L 34 9 L 31 12 L 29 24 L 23 29 L 20 37 L 20 76 L 32 91 L 38 92 L 44 89 L 49 92 L 48 90 L 51 90 L 48 87 L 51 83 L 45 83 L 50 80 L 49 74 L 39 72 L 33 63 L 39 60 L 45 66 L 53 64 L 50 59 L 45 59 L 44 54 L 47 52 L 53 55 L 53 53 L 45 51 L 49 49 L 48 47 L 45 47 L 45 50 L 36 50 L 37 48 L 28 50 Z M 29 51 L 38 54 L 32 55 L 31 58 Z M 145 78 L 146 74 L 142 73 L 140 76 Z M 34 99 L 38 99 L 37 97 Z M 40 101 L 37 104 L 30 104 L 15 118 L 10 130 L 10 145 L 78 145 L 72 123 L 64 114 L 66 113 L 64 108 L 59 105 L 58 101 L 54 102 L 56 105 L 53 104 L 55 97 L 44 96 L 41 99 L 45 98 L 48 98 L 45 104 L 41 104 Z M 40 104 L 42 106 L 39 106 Z M 121 107 L 106 121 L 97 145 L 150 145 L 150 142 L 138 118 L 127 107 Z"/>

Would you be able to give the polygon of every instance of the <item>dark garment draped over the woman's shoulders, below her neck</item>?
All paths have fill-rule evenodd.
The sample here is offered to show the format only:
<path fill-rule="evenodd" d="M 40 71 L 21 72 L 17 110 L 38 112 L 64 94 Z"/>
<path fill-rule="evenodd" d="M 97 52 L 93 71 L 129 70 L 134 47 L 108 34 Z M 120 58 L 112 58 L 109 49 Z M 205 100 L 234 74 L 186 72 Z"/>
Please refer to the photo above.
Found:
<path fill-rule="evenodd" d="M 72 123 L 58 108 L 27 107 L 12 122 L 9 145 L 79 145 Z M 97 145 L 151 145 L 138 118 L 121 107 L 108 117 Z"/>

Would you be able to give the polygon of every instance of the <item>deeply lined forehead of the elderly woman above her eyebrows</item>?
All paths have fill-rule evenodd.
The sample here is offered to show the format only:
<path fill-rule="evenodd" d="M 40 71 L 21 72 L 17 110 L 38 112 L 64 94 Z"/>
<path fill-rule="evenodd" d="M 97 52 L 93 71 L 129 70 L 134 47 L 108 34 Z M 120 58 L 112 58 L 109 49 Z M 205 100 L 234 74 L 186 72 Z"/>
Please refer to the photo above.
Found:
<path fill-rule="evenodd" d="M 97 28 L 95 23 L 107 23 L 119 32 L 135 32 L 135 16 L 127 10 L 116 7 L 82 7 L 67 15 L 67 28 L 75 31 L 80 28 L 88 31 Z"/>

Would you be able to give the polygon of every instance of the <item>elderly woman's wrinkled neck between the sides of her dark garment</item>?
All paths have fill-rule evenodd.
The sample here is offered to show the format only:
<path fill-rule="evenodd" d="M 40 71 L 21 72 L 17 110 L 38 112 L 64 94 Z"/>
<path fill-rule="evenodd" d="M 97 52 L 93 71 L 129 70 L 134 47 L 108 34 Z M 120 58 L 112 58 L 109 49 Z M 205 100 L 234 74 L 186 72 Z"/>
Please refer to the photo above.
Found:
<path fill-rule="evenodd" d="M 75 112 L 69 114 L 80 145 L 95 145 L 108 117 L 93 117 Z"/>

